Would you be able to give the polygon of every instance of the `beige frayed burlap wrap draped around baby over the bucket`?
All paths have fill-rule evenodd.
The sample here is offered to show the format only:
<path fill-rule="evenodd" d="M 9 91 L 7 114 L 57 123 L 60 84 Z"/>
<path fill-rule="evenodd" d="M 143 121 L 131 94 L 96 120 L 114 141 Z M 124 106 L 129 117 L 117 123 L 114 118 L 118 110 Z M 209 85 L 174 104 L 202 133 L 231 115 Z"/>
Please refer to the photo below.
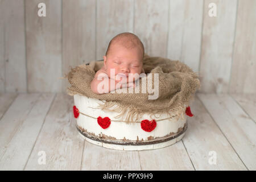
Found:
<path fill-rule="evenodd" d="M 148 96 L 152 93 L 148 93 L 148 90 L 142 93 L 142 78 L 139 79 L 139 93 L 129 93 L 129 90 L 125 88 L 127 93 L 96 94 L 90 89 L 90 82 L 103 66 L 103 61 L 91 61 L 89 65 L 83 64 L 72 68 L 67 75 L 71 84 L 67 90 L 68 94 L 71 96 L 80 94 L 103 100 L 104 104 L 99 105 L 98 108 L 117 111 L 120 113 L 118 117 L 127 111 L 126 122 L 137 121 L 142 114 L 167 113 L 170 117 L 177 117 L 184 112 L 184 105 L 188 106 L 193 100 L 196 90 L 200 89 L 199 76 L 186 64 L 178 60 L 145 55 L 143 68 L 146 74 L 151 73 L 153 88 L 154 74 L 158 73 L 159 97 L 157 99 L 149 100 Z"/>

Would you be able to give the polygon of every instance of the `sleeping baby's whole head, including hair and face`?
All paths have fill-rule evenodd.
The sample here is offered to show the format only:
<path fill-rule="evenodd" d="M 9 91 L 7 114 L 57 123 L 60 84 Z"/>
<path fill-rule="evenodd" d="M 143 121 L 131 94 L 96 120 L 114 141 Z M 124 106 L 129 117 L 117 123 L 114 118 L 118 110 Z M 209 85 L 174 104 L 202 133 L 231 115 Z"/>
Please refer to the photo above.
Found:
<path fill-rule="evenodd" d="M 110 77 L 110 69 L 115 75 L 142 72 L 144 46 L 138 36 L 125 32 L 115 36 L 110 42 L 104 58 L 104 67 Z"/>

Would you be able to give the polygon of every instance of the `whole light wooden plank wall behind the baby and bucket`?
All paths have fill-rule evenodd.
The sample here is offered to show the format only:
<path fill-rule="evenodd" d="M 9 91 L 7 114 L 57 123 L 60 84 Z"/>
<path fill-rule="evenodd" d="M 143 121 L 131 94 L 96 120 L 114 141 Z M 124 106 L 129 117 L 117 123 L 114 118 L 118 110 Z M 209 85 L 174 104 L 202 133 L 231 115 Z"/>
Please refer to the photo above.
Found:
<path fill-rule="evenodd" d="M 0 0 L 0 92 L 65 92 L 70 67 L 133 32 L 149 55 L 199 72 L 199 92 L 255 93 L 255 12 L 255 0 Z"/>

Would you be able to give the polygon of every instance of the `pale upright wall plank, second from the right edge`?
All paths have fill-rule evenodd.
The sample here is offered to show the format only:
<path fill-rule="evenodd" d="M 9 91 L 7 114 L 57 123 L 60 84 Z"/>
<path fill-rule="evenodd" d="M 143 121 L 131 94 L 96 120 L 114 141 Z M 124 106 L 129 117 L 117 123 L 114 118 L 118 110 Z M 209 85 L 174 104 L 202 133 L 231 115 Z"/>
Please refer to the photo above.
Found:
<path fill-rule="evenodd" d="M 209 3 L 217 5 L 217 16 L 210 17 Z M 205 0 L 201 49 L 201 89 L 204 93 L 226 93 L 236 23 L 237 1 Z"/>

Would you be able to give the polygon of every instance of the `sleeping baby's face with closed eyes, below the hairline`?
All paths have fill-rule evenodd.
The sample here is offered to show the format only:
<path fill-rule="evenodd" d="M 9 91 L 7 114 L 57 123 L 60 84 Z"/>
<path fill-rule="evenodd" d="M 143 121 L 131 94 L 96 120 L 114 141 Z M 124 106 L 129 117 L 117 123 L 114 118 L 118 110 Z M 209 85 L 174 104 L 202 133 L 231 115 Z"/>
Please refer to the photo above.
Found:
<path fill-rule="evenodd" d="M 128 77 L 129 73 L 141 74 L 142 59 L 141 49 L 138 47 L 127 49 L 119 44 L 113 44 L 108 57 L 104 56 L 104 66 L 109 77 L 110 69 L 115 69 L 115 75 L 123 73 Z"/>

